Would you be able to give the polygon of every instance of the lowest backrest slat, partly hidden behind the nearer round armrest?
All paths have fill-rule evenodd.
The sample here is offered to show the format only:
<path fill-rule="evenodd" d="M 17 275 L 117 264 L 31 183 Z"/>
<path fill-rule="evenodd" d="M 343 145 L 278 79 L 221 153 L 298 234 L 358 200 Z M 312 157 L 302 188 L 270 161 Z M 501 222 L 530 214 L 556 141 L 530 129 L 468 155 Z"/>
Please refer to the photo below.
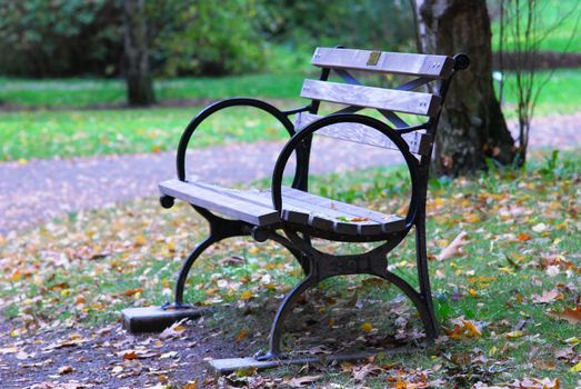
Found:
<path fill-rule="evenodd" d="M 297 116 L 294 128 L 297 131 L 300 131 L 320 118 L 322 118 L 322 116 L 300 112 Z M 398 150 L 398 147 L 388 137 L 378 130 L 360 123 L 338 123 L 334 126 L 328 126 L 315 133 L 352 142 Z M 428 156 L 430 153 L 431 137 L 428 133 L 410 132 L 404 133 L 402 138 L 410 147 L 410 152 L 421 156 Z"/>

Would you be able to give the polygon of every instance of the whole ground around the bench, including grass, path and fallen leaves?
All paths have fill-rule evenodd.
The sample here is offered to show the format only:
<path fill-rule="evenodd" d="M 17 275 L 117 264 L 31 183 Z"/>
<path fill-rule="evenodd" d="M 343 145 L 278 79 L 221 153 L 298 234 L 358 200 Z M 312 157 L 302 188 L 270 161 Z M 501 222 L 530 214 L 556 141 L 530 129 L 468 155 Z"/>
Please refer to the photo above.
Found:
<path fill-rule="evenodd" d="M 119 322 L 122 308 L 171 299 L 183 257 L 207 231 L 191 209 L 162 210 L 156 197 L 157 183 L 174 177 L 173 151 L 164 150 L 174 149 L 198 109 L 166 103 L 149 111 L 119 109 L 122 88 L 114 82 L 70 93 L 61 93 L 58 81 L 46 83 L 42 92 L 36 83 L 8 82 L 0 98 L 31 107 L 0 107 L 10 111 L 0 119 L 6 130 L 0 131 L 0 157 L 8 160 L 0 163 L 0 309 L 7 318 L 0 322 L 2 387 L 581 386 L 581 113 L 571 92 L 580 78 L 572 70 L 557 76 L 541 98 L 543 116 L 533 123 L 525 170 L 491 167 L 481 176 L 430 183 L 428 250 L 442 325 L 435 345 L 424 348 L 419 319 L 395 288 L 350 277 L 325 282 L 301 299 L 289 320 L 288 349 L 322 356 L 337 347 L 397 353 L 354 365 L 248 370 L 221 378 L 204 359 L 264 349 L 278 303 L 301 277 L 276 245 L 236 239 L 208 252 L 187 286 L 187 300 L 209 310 L 198 320 L 163 335 L 139 336 Z M 244 94 L 262 88 L 264 96 L 287 98 L 273 89 L 272 78 L 242 81 Z M 164 97 L 216 93 L 194 103 L 233 94 L 220 89 L 228 80 L 184 80 L 184 89 L 164 82 Z M 295 94 L 290 87 L 282 89 Z M 56 101 L 48 111 L 34 100 L 42 93 L 42 101 Z M 96 108 L 108 99 L 102 110 L 69 110 Z M 180 100 L 180 106 L 191 103 Z M 56 111 L 54 106 L 62 107 Z M 264 184 L 284 132 L 250 113 L 217 121 L 220 130 L 232 130 L 226 136 L 200 132 L 199 147 L 189 156 L 191 171 L 228 184 Z M 244 131 L 232 126 L 240 119 Z M 257 142 L 264 133 L 267 141 Z M 233 141 L 238 136 L 241 141 Z M 403 208 L 409 193 L 401 184 L 404 172 L 378 167 L 395 159 L 325 141 L 315 147 L 313 191 L 381 211 Z M 70 158 L 54 158 L 61 154 Z M 359 170 L 348 171 L 353 168 Z M 399 247 L 389 266 L 413 282 L 413 241 Z"/>

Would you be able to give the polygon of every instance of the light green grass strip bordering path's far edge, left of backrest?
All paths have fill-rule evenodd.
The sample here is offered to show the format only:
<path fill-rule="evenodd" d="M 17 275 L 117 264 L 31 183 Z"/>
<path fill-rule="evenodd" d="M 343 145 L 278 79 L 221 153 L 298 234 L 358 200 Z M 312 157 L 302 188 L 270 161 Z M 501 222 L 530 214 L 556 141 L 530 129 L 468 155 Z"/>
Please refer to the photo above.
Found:
<path fill-rule="evenodd" d="M 199 111 L 156 108 L 6 112 L 0 116 L 0 160 L 174 151 L 183 129 Z M 284 139 L 286 133 L 282 124 L 263 111 L 231 108 L 199 127 L 191 147 Z"/>

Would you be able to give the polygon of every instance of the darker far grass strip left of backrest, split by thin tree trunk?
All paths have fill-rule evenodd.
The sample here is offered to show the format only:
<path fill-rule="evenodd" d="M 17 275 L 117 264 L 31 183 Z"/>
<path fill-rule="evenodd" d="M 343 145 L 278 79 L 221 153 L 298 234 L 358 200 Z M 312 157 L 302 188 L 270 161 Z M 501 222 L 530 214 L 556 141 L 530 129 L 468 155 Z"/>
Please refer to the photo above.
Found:
<path fill-rule="evenodd" d="M 158 100 L 223 99 L 227 97 L 295 98 L 303 74 L 250 74 L 222 78 L 156 80 Z M 24 107 L 123 104 L 123 80 L 0 78 L 0 102 Z"/>

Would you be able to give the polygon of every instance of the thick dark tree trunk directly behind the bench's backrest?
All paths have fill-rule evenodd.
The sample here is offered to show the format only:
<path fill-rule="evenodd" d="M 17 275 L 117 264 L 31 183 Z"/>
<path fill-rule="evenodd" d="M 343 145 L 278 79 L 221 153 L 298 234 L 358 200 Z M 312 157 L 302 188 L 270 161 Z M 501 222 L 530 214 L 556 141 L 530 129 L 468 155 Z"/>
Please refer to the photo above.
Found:
<path fill-rule="evenodd" d="M 510 164 L 514 141 L 492 87 L 490 18 L 485 0 L 417 0 L 424 52 L 467 53 L 471 63 L 448 92 L 435 139 L 434 171 L 458 176 Z"/>

